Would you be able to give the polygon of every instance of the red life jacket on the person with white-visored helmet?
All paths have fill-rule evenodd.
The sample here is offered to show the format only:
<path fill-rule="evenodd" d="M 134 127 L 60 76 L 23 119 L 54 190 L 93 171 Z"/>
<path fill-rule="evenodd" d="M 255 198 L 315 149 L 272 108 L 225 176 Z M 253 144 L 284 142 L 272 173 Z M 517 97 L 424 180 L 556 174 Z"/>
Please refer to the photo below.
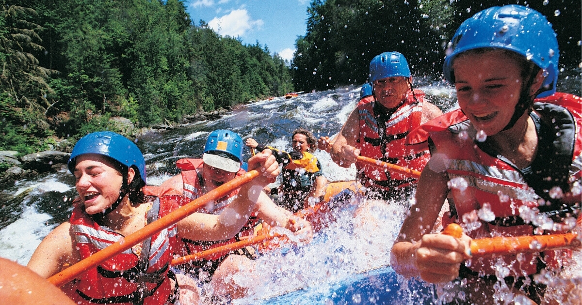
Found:
<path fill-rule="evenodd" d="M 202 168 L 204 162 L 202 159 L 180 159 L 176 161 L 176 166 L 182 170 L 182 181 L 183 181 L 183 194 L 190 200 L 194 200 L 204 193 L 202 192 L 202 184 L 204 183 L 204 178 L 202 177 L 201 173 L 198 173 L 197 169 Z M 243 175 L 246 173 L 242 168 L 236 173 L 236 177 Z M 219 214 L 228 204 L 235 199 L 235 196 L 239 193 L 239 189 L 229 193 L 225 197 L 217 200 L 217 202 L 212 206 L 204 207 L 203 210 L 200 210 L 200 213 L 206 214 Z M 255 216 L 251 216 L 249 218 L 249 222 L 244 225 L 244 227 L 240 230 L 239 234 L 235 237 L 230 239 L 223 239 L 222 241 L 193 241 L 191 239 L 182 238 L 183 247 L 179 251 L 181 256 L 197 253 L 204 250 L 212 249 L 215 247 L 223 246 L 228 243 L 237 242 L 240 240 L 241 236 L 250 236 L 254 234 L 254 227 L 258 223 L 258 218 Z M 210 260 L 218 260 L 222 259 L 226 256 L 221 257 L 212 257 Z M 194 267 L 201 267 L 196 266 L 197 263 L 200 262 L 193 262 Z"/>

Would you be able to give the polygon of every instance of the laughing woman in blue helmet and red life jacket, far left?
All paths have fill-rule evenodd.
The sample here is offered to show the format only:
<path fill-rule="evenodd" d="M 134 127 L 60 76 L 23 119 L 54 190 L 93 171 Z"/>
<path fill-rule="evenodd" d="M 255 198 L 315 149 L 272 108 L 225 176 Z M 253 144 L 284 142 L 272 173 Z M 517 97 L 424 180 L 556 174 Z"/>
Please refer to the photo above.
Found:
<path fill-rule="evenodd" d="M 246 184 L 230 210 L 218 216 L 195 213 L 91 268 L 62 286 L 77 304 L 168 304 L 180 296 L 179 283 L 170 271 L 176 238 L 217 240 L 234 236 L 246 223 L 257 201 L 253 194 L 279 174 L 269 153 L 249 160 L 261 176 Z M 79 198 L 73 200 L 70 220 L 56 227 L 34 251 L 28 267 L 48 278 L 78 263 L 177 209 L 183 196 L 147 197 L 145 160 L 139 148 L 115 132 L 93 132 L 73 148 L 68 167 L 75 177 Z M 237 214 L 240 217 L 234 217 Z M 188 285 L 186 285 L 188 286 Z M 184 295 L 185 296 L 185 295 Z"/>

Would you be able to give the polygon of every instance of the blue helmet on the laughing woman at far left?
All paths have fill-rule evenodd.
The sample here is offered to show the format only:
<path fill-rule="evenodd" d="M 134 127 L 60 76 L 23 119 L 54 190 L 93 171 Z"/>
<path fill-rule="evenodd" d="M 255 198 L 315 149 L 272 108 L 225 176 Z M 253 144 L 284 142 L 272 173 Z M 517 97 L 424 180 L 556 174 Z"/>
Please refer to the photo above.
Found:
<path fill-rule="evenodd" d="M 81 138 L 74 145 L 69 162 L 67 163 L 71 173 L 74 172 L 76 165 L 75 158 L 86 155 L 87 153 L 108 156 L 128 168 L 132 165 L 136 166 L 141 180 L 145 184 L 144 156 L 141 154 L 140 149 L 132 141 L 123 137 L 123 135 L 116 134 L 112 131 L 98 131 Z"/>

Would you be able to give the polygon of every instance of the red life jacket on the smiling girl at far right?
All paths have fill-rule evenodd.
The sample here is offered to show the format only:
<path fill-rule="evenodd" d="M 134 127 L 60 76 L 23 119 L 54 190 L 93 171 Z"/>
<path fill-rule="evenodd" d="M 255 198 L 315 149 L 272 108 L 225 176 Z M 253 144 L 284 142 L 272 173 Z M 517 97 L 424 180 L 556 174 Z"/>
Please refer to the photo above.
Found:
<path fill-rule="evenodd" d="M 470 224 L 464 223 L 466 231 L 470 231 L 466 233 L 471 238 L 533 235 L 534 225 L 531 224 L 531 220 L 526 221 L 522 218 L 520 207 L 527 206 L 539 209 L 542 211 L 542 215 L 544 213 L 552 215 L 571 212 L 573 210 L 564 209 L 564 207 L 572 207 L 575 202 L 580 202 L 579 195 L 575 196 L 569 192 L 574 182 L 578 181 L 579 183 L 581 179 L 582 116 L 580 98 L 557 93 L 543 100 L 535 100 L 535 102 L 538 101 L 552 101 L 552 104 L 535 103 L 534 110 L 540 115 L 539 120 L 549 126 L 551 133 L 556 131 L 560 133 L 552 142 L 551 148 L 555 150 L 555 153 L 552 153 L 552 156 L 543 156 L 544 164 L 548 164 L 546 171 L 550 173 L 543 175 L 552 177 L 547 182 L 540 182 L 544 179 L 539 179 L 540 181 L 530 182 L 532 185 L 529 185 L 523 172 L 505 157 L 495 156 L 487 146 L 481 148 L 481 144 L 472 141 L 470 137 L 468 139 L 463 136 L 459 137 L 460 132 L 467 130 L 469 126 L 466 117 L 465 120 L 462 119 L 464 116 L 460 109 L 443 114 L 443 116 L 423 125 L 421 128 L 423 131 L 420 134 L 427 132 L 434 142 L 435 154 L 432 157 L 438 154 L 443 159 L 449 180 L 460 177 L 468 185 L 466 189 L 452 188 L 450 190 L 457 216 L 452 219 L 443 217 L 443 225 L 452 221 L 459 223 L 469 221 L 469 217 L 463 220 L 463 216 L 475 213 L 475 211 L 482 209 L 485 203 L 488 203 L 491 206 L 491 211 L 495 214 L 495 220 L 485 222 L 473 217 Z M 534 117 L 536 118 L 534 120 L 538 120 L 537 114 Z M 472 128 L 468 131 L 471 132 L 471 130 Z M 423 137 L 416 131 L 411 135 L 416 139 Z M 541 149 L 538 149 L 537 157 L 540 157 Z M 489 153 L 484 150 L 489 151 Z M 535 186 L 533 186 L 534 183 L 536 183 Z M 552 199 L 547 195 L 552 185 L 560 186 L 563 190 L 565 196 L 562 199 Z M 541 206 L 539 202 L 545 202 L 545 204 Z M 562 209 L 561 213 L 559 213 L 560 209 Z M 525 210 L 531 211 L 531 209 Z M 531 217 L 528 216 L 529 214 L 531 212 L 524 215 Z M 467 230 L 467 226 L 478 228 Z M 485 274 L 495 274 L 494 268 L 498 257 L 472 261 L 469 268 Z M 520 254 L 520 260 L 517 260 L 516 255 L 501 257 L 505 260 L 506 266 L 510 267 L 510 275 L 523 276 L 538 272 L 537 253 Z M 552 264 L 554 258 L 555 252 L 545 253 L 546 264 Z"/>

